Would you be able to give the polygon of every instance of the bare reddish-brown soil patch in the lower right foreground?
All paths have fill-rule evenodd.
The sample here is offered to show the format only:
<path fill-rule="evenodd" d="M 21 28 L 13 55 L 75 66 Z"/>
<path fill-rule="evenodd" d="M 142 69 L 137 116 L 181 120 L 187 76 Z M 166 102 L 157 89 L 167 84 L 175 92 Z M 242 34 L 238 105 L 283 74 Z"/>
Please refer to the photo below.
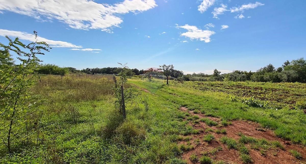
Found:
<path fill-rule="evenodd" d="M 209 118 L 215 122 L 221 124 L 221 120 L 219 118 L 214 117 L 207 117 L 203 114 L 194 114 L 193 111 L 188 111 L 187 108 L 181 107 L 181 111 L 188 112 L 190 115 L 194 116 L 197 115 L 199 118 Z M 281 148 L 270 148 L 266 151 L 266 155 L 261 155 L 259 150 L 254 150 L 250 148 L 250 145 L 246 145 L 250 150 L 249 155 L 252 158 L 253 163 L 258 164 L 288 164 L 288 163 L 306 163 L 306 149 L 303 146 L 293 144 L 290 141 L 282 140 L 274 135 L 272 130 L 268 129 L 261 129 L 264 131 L 256 130 L 260 128 L 260 125 L 254 122 L 245 122 L 245 121 L 232 121 L 232 125 L 228 125 L 225 127 L 216 127 L 216 126 L 207 126 L 204 122 L 190 123 L 191 126 L 195 129 L 203 129 L 200 134 L 192 135 L 192 139 L 188 142 L 189 144 L 193 145 L 193 149 L 187 152 L 184 152 L 183 159 L 188 161 L 188 163 L 192 163 L 189 159 L 190 155 L 196 154 L 199 158 L 202 156 L 203 152 L 211 151 L 214 148 L 222 147 L 222 151 L 217 151 L 215 155 L 209 155 L 212 159 L 215 160 L 223 160 L 228 163 L 243 163 L 240 159 L 240 154 L 238 150 L 235 149 L 228 149 L 226 145 L 222 144 L 219 139 L 223 136 L 227 136 L 238 140 L 240 136 L 238 135 L 239 132 L 244 134 L 247 137 L 253 137 L 256 139 L 266 139 L 269 141 L 279 141 L 284 149 Z M 213 132 L 205 132 L 206 129 L 213 129 Z M 217 129 L 226 129 L 226 134 L 217 134 Z M 207 143 L 203 141 L 203 136 L 211 133 L 215 139 L 211 143 Z M 199 144 L 195 144 L 195 140 L 200 139 Z M 187 144 L 186 141 L 180 141 L 179 144 Z M 296 159 L 289 150 L 297 150 L 302 154 L 302 159 Z"/>

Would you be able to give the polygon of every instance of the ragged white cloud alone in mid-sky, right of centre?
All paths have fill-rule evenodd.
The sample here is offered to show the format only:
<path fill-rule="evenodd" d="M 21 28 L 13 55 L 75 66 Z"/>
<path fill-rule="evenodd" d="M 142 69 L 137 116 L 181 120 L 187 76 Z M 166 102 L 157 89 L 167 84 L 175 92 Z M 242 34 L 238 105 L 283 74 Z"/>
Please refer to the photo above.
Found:
<path fill-rule="evenodd" d="M 201 30 L 196 26 L 190 26 L 188 24 L 185 24 L 184 26 L 177 26 L 177 28 L 184 28 L 188 32 L 184 32 L 181 34 L 181 36 L 185 36 L 187 38 L 190 38 L 191 40 L 196 39 L 200 41 L 204 41 L 206 43 L 210 42 L 210 36 L 214 35 L 214 31 L 210 30 Z"/>

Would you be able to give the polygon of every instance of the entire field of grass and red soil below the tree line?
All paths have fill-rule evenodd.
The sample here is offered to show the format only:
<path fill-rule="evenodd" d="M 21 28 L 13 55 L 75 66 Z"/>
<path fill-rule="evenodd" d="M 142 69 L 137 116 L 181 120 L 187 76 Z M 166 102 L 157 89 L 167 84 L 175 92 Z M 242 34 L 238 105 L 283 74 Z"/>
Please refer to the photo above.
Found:
<path fill-rule="evenodd" d="M 306 115 L 303 110 L 292 110 L 290 105 L 279 110 L 254 108 L 230 100 L 231 85 L 234 86 L 233 95 L 239 96 L 238 90 L 242 87 L 238 85 L 258 87 L 260 83 L 170 81 L 167 86 L 163 80 L 129 79 L 125 87 L 133 87 L 141 94 L 126 102 L 127 119 L 123 121 L 114 105 L 112 77 L 60 78 L 43 76 L 42 82 L 33 88 L 47 100 L 42 107 L 39 130 L 35 137 L 29 136 L 27 142 L 15 144 L 13 155 L 7 155 L 5 145 L 1 144 L 0 163 L 256 163 L 256 153 L 265 153 L 266 158 L 269 155 L 276 158 L 279 153 L 278 158 L 284 156 L 291 162 L 305 162 Z M 224 88 L 228 91 L 216 90 L 222 88 L 216 86 L 222 85 L 227 85 Z M 271 84 L 263 84 L 263 88 L 264 85 Z M 287 91 L 289 93 L 304 94 L 301 84 L 284 85 L 293 87 Z M 202 86 L 210 86 L 210 89 Z M 266 86 L 266 90 L 269 87 Z M 221 92 L 211 92 L 213 88 Z M 260 95 L 265 97 L 264 93 Z M 146 96 L 148 111 L 143 104 Z M 289 104 L 289 98 L 282 104 Z M 304 100 L 297 95 L 291 99 Z M 273 102 L 272 98 L 269 100 Z M 266 132 L 254 130 L 254 135 L 250 136 L 255 140 L 243 141 L 240 138 L 249 135 L 238 135 L 239 128 L 235 128 L 238 123 Z M 261 133 L 275 135 L 264 141 L 259 140 L 265 137 Z M 223 136 L 228 138 L 221 139 Z M 284 145 L 282 139 L 290 145 Z M 237 151 L 237 158 L 226 161 L 220 152 L 229 151 L 231 144 Z M 209 150 L 205 153 L 199 151 L 200 148 Z M 302 154 L 300 159 L 295 157 L 298 153 Z"/>

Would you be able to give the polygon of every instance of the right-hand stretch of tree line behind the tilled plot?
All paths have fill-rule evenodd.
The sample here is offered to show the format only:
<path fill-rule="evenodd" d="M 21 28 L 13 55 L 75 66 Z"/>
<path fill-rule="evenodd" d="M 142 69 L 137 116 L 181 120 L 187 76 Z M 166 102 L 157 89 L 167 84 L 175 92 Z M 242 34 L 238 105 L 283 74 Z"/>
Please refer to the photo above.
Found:
<path fill-rule="evenodd" d="M 306 82 L 306 60 L 285 61 L 282 67 L 275 68 L 272 64 L 258 69 L 256 72 L 235 70 L 220 75 L 214 70 L 212 75 L 187 74 L 178 78 L 181 81 L 253 81 L 253 82 Z"/>

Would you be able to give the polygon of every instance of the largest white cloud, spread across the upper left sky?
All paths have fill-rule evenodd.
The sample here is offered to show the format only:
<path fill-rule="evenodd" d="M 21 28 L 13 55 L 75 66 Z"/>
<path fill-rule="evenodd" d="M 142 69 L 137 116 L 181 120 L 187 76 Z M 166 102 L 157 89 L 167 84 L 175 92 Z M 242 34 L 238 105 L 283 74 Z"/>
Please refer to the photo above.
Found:
<path fill-rule="evenodd" d="M 155 0 L 124 0 L 113 5 L 92 0 L 0 0 L 0 11 L 64 22 L 75 29 L 111 32 L 123 22 L 119 14 L 137 13 L 156 7 Z M 43 17 L 43 18 L 42 18 Z"/>

